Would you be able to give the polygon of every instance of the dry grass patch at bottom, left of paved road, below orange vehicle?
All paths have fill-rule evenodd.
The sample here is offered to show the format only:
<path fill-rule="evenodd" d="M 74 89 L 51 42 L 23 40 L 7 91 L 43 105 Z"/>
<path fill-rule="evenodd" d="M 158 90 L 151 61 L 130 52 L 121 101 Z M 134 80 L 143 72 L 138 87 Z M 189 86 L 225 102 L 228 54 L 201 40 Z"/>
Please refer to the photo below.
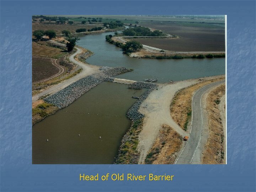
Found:
<path fill-rule="evenodd" d="M 162 125 L 145 164 L 174 164 L 182 145 L 182 136 L 168 125 Z"/>

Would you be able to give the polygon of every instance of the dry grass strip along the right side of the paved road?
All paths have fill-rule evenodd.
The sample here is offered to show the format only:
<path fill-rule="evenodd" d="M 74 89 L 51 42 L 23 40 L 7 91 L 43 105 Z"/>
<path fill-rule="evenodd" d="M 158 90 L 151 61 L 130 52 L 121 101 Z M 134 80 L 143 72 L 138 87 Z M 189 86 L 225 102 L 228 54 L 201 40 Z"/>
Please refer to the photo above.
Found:
<path fill-rule="evenodd" d="M 207 97 L 209 137 L 203 151 L 202 164 L 225 164 L 224 132 L 218 108 L 219 99 L 224 94 L 225 84 L 222 84 Z"/>

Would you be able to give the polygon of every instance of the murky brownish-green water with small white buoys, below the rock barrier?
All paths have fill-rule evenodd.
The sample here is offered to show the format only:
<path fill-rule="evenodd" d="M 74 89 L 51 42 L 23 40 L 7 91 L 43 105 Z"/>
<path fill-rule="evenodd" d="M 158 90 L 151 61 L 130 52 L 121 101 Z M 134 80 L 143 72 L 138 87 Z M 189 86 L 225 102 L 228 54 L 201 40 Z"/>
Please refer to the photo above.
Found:
<path fill-rule="evenodd" d="M 132 96 L 140 96 L 145 90 L 103 82 L 34 124 L 33 164 L 113 164 L 130 126 L 126 112 L 137 101 Z"/>

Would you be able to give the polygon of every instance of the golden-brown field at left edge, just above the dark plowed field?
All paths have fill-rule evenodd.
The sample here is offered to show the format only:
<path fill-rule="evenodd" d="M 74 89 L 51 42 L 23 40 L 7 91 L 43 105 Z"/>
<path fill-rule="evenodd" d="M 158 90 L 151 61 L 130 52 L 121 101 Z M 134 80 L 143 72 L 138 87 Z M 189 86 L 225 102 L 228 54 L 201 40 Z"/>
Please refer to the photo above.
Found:
<path fill-rule="evenodd" d="M 50 58 L 59 58 L 65 55 L 65 52 L 62 49 L 54 48 L 39 44 L 37 42 L 32 42 L 32 56 L 33 57 L 50 57 Z"/>

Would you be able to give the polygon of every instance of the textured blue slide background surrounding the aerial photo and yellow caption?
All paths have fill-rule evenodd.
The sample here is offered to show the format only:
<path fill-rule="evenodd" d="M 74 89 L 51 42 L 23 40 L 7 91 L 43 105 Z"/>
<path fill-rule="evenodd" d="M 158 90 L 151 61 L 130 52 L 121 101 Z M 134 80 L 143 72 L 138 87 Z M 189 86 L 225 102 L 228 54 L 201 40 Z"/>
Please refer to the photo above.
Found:
<path fill-rule="evenodd" d="M 31 16 L 228 15 L 228 165 L 32 165 Z M 1 191 L 255 191 L 255 1 L 1 1 Z M 174 181 L 79 181 L 79 174 Z"/>

